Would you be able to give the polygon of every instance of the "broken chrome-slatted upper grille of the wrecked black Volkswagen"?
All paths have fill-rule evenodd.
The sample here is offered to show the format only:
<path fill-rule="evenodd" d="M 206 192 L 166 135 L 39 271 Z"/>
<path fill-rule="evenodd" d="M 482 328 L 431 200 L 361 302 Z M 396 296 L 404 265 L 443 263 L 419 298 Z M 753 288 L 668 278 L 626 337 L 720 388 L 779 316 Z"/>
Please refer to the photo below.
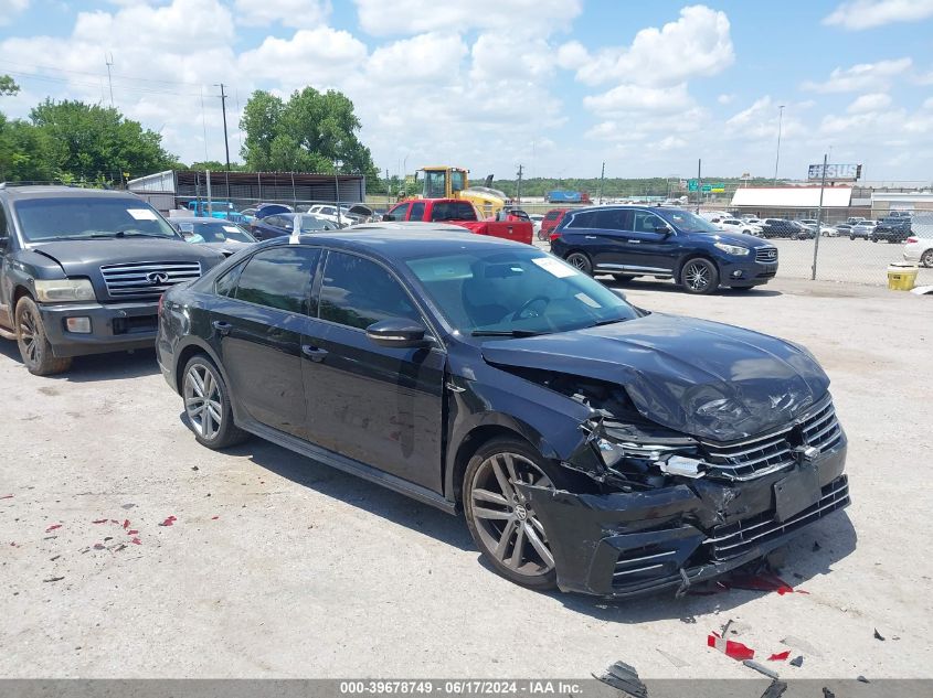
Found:
<path fill-rule="evenodd" d="M 796 425 L 765 437 L 738 443 L 703 442 L 709 474 L 730 480 L 752 480 L 794 464 L 793 449 L 813 445 L 823 451 L 835 447 L 842 438 L 842 428 L 836 419 L 833 400 L 826 398 Z"/>

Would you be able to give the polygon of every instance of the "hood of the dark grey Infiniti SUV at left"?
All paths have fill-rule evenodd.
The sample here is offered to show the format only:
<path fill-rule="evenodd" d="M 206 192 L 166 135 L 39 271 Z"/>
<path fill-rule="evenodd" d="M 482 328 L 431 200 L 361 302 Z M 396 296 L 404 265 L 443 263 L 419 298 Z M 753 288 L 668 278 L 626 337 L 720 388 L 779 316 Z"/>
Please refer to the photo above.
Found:
<path fill-rule="evenodd" d="M 144 238 L 102 238 L 93 240 L 61 240 L 33 247 L 33 251 L 54 259 L 65 273 L 82 276 L 100 265 L 134 261 L 206 261 L 203 269 L 216 264 L 219 254 L 199 249 L 183 240 Z"/>

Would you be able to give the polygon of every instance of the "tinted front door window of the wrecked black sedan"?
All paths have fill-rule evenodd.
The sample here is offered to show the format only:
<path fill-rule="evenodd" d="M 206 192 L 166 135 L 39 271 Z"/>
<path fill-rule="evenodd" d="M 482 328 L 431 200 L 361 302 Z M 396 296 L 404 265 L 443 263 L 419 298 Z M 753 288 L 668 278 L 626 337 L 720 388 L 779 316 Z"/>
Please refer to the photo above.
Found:
<path fill-rule="evenodd" d="M 319 316 L 359 329 L 389 318 L 421 322 L 421 313 L 391 273 L 369 259 L 335 251 L 325 264 Z"/>

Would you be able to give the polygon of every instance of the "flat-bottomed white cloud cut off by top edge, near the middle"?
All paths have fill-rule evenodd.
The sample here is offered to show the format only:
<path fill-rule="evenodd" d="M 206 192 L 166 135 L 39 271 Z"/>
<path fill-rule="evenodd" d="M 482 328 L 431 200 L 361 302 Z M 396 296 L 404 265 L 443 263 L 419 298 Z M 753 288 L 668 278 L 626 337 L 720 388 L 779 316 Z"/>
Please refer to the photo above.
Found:
<path fill-rule="evenodd" d="M 375 36 L 474 29 L 552 31 L 568 26 L 581 0 L 356 0 L 360 25 Z"/>

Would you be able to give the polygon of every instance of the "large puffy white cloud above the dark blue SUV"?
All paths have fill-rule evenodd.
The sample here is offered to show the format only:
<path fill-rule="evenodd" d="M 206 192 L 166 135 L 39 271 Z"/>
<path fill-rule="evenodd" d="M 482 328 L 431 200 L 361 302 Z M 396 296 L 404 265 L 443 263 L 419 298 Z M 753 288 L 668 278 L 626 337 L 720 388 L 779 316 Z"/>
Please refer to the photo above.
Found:
<path fill-rule="evenodd" d="M 729 18 L 701 4 L 683 8 L 677 21 L 661 29 L 643 29 L 630 46 L 591 55 L 582 44 L 571 42 L 558 56 L 564 67 L 575 67 L 577 79 L 589 85 L 612 80 L 671 85 L 715 75 L 735 60 Z"/>

